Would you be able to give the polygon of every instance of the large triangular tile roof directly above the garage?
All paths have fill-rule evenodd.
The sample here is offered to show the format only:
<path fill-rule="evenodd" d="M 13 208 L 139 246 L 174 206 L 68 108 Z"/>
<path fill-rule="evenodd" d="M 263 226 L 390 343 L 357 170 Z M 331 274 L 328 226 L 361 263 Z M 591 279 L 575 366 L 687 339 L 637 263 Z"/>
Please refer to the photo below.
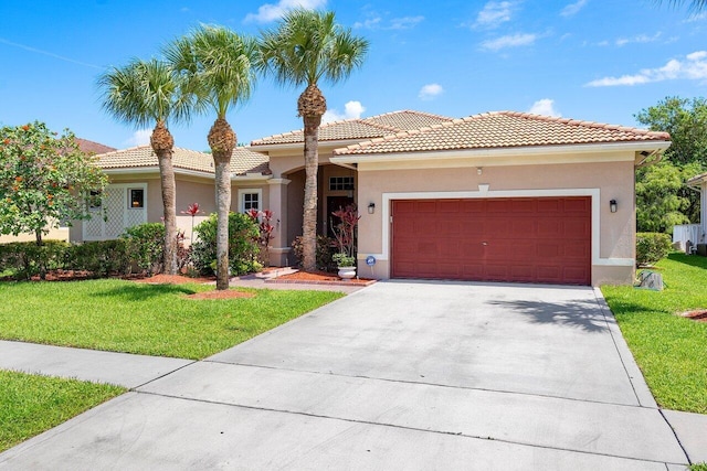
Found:
<path fill-rule="evenodd" d="M 669 140 L 667 132 L 646 131 L 526 113 L 495 111 L 431 127 L 400 131 L 335 150 L 337 156 L 458 149 Z"/>

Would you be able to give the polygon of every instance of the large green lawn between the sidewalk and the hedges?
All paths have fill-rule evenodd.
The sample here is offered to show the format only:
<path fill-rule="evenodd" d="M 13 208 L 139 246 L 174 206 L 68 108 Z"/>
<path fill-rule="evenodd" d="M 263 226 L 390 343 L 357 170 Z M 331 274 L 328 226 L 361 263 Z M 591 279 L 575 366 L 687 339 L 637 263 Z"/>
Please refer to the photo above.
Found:
<path fill-rule="evenodd" d="M 211 286 L 117 279 L 0 283 L 0 339 L 200 360 L 344 295 L 249 290 L 250 299 L 192 300 Z"/>

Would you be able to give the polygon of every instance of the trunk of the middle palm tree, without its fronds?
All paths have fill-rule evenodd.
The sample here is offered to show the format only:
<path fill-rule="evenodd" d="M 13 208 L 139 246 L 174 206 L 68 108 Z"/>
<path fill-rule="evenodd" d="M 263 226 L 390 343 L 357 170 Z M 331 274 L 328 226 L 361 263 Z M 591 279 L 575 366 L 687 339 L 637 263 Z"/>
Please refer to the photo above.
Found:
<path fill-rule="evenodd" d="M 231 208 L 231 154 L 235 132 L 223 118 L 209 131 L 209 147 L 215 167 L 217 190 L 217 289 L 229 289 L 229 212 Z"/>

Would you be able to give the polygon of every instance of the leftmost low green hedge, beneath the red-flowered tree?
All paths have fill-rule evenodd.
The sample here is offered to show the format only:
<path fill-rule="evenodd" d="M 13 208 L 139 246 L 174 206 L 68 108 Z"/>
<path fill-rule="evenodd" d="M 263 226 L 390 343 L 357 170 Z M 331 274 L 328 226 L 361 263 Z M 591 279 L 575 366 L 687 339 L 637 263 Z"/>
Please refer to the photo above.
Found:
<path fill-rule="evenodd" d="M 62 240 L 13 242 L 0 244 L 0 271 L 12 271 L 17 279 L 44 278 L 49 270 L 63 268 L 71 245 Z"/>

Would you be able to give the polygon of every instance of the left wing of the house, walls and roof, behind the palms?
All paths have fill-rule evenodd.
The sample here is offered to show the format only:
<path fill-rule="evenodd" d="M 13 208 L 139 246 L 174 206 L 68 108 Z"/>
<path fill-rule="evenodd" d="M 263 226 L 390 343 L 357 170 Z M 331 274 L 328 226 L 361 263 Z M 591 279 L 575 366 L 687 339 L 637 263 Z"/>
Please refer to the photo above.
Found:
<path fill-rule="evenodd" d="M 92 207 L 96 217 L 74 222 L 71 240 L 117 238 L 134 225 L 159 222 L 163 206 L 159 164 L 152 148 L 139 146 L 102 153 L 97 158 L 110 183 L 98 205 Z M 213 158 L 204 152 L 175 148 L 172 167 L 177 186 L 177 226 L 190 238 L 192 222 L 199 224 L 215 212 Z M 271 179 L 267 157 L 238 147 L 231 158 L 231 173 L 232 211 L 267 207 L 270 193 L 266 189 Z M 192 203 L 199 203 L 201 211 L 193 221 L 181 213 Z"/>

